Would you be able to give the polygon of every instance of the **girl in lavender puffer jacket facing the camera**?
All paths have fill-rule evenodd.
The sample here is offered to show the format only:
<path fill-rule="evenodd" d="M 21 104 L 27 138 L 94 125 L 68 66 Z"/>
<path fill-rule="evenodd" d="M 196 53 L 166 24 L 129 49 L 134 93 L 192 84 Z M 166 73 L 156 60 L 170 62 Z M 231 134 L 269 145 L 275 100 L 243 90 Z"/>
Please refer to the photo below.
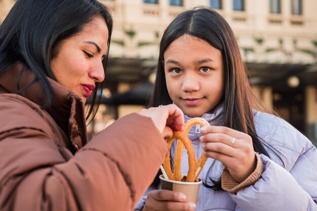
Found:
<path fill-rule="evenodd" d="M 247 75 L 234 34 L 216 11 L 194 8 L 170 23 L 151 105 L 173 102 L 186 121 L 201 117 L 210 123 L 201 133 L 188 133 L 196 159 L 208 157 L 199 175 L 204 185 L 193 204 L 153 184 L 136 210 L 317 210 L 316 147 L 265 113 Z M 181 172 L 187 171 L 184 151 Z"/>

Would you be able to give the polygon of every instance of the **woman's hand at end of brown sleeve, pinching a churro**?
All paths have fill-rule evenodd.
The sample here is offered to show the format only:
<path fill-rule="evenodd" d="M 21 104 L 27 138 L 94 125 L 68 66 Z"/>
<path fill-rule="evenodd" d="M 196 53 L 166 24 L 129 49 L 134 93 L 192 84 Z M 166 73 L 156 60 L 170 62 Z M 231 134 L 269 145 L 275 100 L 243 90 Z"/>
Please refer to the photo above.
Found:
<path fill-rule="evenodd" d="M 173 136 L 173 131 L 184 129 L 184 114 L 174 104 L 142 109 L 139 114 L 150 117 L 164 137 L 170 138 Z"/>

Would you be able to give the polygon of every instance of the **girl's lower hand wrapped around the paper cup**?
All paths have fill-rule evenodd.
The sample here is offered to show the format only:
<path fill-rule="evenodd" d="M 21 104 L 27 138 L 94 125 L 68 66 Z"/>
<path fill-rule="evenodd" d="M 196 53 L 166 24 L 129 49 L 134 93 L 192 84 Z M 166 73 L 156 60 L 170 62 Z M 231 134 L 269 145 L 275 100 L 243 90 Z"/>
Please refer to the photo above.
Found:
<path fill-rule="evenodd" d="M 185 202 L 183 193 L 171 190 L 153 190 L 147 194 L 142 211 L 156 210 L 195 210 L 196 204 Z"/>

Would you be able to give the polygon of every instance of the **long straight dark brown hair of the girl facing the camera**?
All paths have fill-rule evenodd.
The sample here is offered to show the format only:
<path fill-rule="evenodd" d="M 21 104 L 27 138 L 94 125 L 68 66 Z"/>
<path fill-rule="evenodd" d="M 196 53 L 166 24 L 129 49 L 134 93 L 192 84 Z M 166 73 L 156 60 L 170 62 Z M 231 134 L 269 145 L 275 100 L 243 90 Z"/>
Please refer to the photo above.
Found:
<path fill-rule="evenodd" d="M 272 111 L 265 109 L 261 100 L 253 94 L 248 80 L 248 71 L 242 60 L 233 31 L 228 23 L 213 9 L 197 7 L 182 12 L 166 28 L 160 43 L 156 79 L 149 106 L 157 107 L 161 104 L 173 102 L 166 85 L 164 52 L 175 39 L 184 34 L 205 40 L 221 51 L 225 74 L 225 90 L 219 104 L 222 103 L 224 107 L 223 126 L 249 134 L 253 140 L 254 150 L 269 156 L 263 147 L 263 144 L 268 145 L 257 136 L 253 109 L 269 113 L 272 113 Z M 209 180 L 212 185 L 205 182 L 205 186 L 217 190 L 222 189 L 221 179 L 216 181 L 209 178 Z"/>

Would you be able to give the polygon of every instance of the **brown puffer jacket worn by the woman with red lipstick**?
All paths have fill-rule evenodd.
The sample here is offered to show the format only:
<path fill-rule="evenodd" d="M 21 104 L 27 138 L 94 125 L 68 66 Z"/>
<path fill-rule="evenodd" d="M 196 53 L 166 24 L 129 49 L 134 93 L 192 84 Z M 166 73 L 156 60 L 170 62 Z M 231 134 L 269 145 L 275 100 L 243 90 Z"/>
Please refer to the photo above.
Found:
<path fill-rule="evenodd" d="M 15 94 L 22 68 L 0 74 L 0 210 L 133 209 L 168 152 L 152 120 L 128 115 L 88 142 L 80 97 L 50 80 L 42 110 L 39 83 Z"/>

